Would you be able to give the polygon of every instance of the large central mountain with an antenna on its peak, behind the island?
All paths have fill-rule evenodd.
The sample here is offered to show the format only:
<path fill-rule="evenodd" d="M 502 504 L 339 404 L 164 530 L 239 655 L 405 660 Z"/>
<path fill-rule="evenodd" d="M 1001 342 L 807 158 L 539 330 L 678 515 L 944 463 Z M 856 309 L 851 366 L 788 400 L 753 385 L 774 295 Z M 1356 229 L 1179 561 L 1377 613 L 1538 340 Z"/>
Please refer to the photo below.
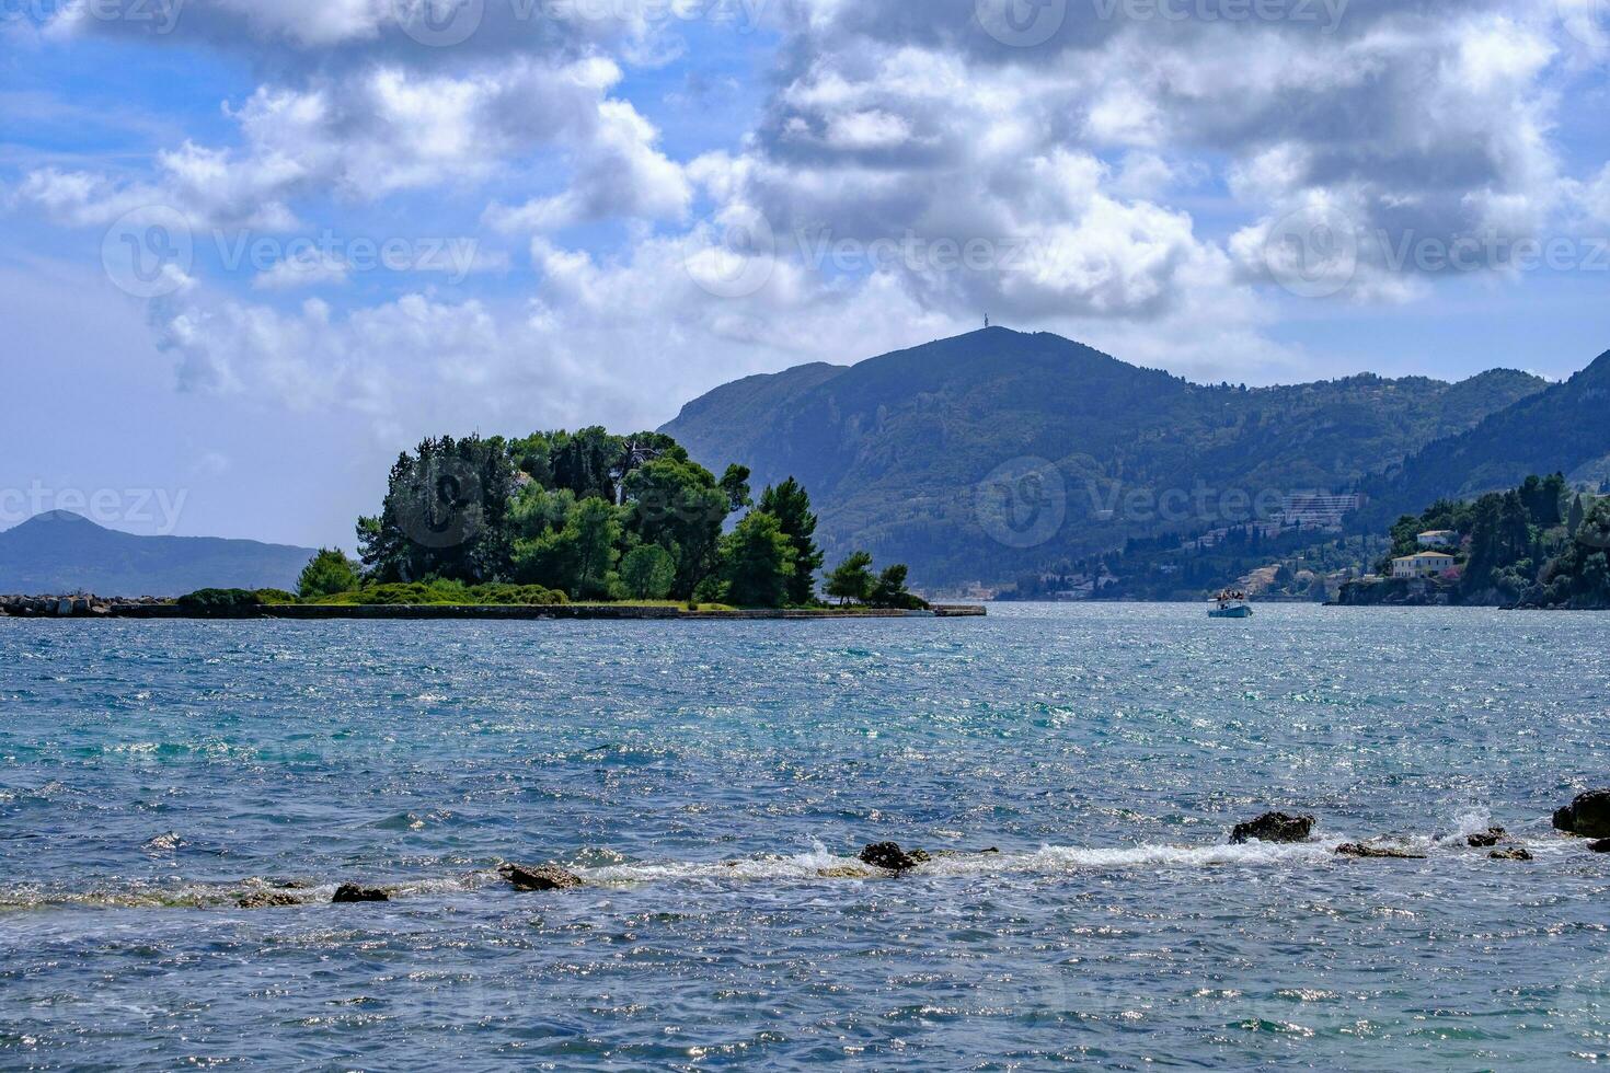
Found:
<path fill-rule="evenodd" d="M 1203 386 L 989 328 L 741 380 L 663 431 L 716 471 L 752 467 L 757 487 L 797 476 L 829 555 L 865 547 L 937 586 L 1230 524 L 1243 497 L 1351 489 L 1544 386 L 1509 370 Z"/>

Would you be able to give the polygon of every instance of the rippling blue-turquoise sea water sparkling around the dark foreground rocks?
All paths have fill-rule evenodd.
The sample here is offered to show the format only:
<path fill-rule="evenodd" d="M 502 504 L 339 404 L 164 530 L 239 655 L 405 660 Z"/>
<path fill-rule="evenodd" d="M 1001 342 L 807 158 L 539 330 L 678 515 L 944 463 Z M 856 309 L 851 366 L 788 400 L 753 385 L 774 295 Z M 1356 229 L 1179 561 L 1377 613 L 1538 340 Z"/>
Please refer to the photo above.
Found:
<path fill-rule="evenodd" d="M 0 1067 L 1610 1062 L 1610 857 L 1549 827 L 1610 785 L 1607 650 L 1312 606 L 0 621 Z M 1317 841 L 1225 845 L 1267 808 Z M 1370 837 L 1426 859 L 1331 853 Z M 1000 853 L 857 875 L 886 838 Z M 394 899 L 235 907 L 343 882 Z"/>

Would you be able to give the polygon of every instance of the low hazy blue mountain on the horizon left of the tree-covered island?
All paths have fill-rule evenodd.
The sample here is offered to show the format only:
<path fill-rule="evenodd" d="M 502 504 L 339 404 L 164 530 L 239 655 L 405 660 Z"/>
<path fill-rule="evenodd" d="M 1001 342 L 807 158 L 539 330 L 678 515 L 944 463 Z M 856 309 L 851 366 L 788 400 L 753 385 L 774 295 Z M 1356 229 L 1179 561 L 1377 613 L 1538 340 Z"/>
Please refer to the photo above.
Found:
<path fill-rule="evenodd" d="M 196 589 L 295 589 L 312 549 L 214 537 L 142 537 L 64 510 L 0 532 L 0 592 L 174 597 Z"/>

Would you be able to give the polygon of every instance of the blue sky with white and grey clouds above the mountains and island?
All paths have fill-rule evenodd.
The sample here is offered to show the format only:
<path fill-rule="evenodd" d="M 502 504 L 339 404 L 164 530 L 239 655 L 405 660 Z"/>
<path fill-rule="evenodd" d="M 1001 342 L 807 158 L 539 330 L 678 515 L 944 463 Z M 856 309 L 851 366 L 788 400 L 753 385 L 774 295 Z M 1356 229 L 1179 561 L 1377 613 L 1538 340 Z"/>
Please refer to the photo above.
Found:
<path fill-rule="evenodd" d="M 1610 349 L 1610 0 L 0 0 L 0 528 L 353 547 L 428 434 L 982 327 Z"/>

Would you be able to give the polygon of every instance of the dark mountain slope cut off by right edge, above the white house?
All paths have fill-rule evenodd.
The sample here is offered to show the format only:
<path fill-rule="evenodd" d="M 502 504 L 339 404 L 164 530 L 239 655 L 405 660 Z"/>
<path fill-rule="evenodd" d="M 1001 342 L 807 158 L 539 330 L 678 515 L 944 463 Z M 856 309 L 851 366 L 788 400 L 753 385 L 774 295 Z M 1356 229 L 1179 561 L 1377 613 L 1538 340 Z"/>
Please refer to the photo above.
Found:
<path fill-rule="evenodd" d="M 1563 473 L 1571 484 L 1610 479 L 1610 352 L 1563 384 L 1426 446 L 1365 487 L 1377 502 L 1373 520 L 1393 521 L 1443 497 L 1515 487 L 1534 473 Z"/>

